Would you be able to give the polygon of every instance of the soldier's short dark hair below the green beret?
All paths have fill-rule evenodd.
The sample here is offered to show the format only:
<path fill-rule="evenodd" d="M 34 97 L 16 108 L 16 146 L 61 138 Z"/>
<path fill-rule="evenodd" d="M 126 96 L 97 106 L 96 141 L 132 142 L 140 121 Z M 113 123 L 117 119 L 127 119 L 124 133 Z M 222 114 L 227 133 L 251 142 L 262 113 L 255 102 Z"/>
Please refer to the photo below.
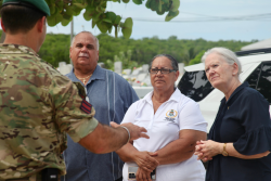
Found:
<path fill-rule="evenodd" d="M 35 9 L 22 5 L 5 5 L 1 8 L 1 20 L 9 34 L 29 31 L 44 14 Z"/>

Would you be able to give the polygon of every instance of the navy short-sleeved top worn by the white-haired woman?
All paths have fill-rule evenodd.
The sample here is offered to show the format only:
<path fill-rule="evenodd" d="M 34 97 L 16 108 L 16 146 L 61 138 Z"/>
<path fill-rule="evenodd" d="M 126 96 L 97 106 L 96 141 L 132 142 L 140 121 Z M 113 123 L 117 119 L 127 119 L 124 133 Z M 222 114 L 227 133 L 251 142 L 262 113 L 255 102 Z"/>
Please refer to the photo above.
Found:
<path fill-rule="evenodd" d="M 244 82 L 222 99 L 209 140 L 233 143 L 243 155 L 271 151 L 268 101 Z M 271 154 L 258 159 L 217 155 L 209 161 L 206 181 L 271 181 Z"/>

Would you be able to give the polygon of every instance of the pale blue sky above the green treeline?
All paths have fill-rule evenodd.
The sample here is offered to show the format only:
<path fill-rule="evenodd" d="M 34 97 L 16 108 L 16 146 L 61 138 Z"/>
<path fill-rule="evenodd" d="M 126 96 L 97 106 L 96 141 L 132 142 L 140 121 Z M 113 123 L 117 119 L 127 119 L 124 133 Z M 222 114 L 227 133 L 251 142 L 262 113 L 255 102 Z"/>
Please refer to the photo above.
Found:
<path fill-rule="evenodd" d="M 271 0 L 181 0 L 180 14 L 170 22 L 165 22 L 166 13 L 157 15 L 146 9 L 145 2 L 141 5 L 132 0 L 127 4 L 107 2 L 106 10 L 133 18 L 132 39 L 176 36 L 178 39 L 250 41 L 271 38 Z M 92 29 L 91 21 L 85 21 L 82 13 L 74 17 L 74 33 L 89 30 L 99 35 L 99 28 Z M 70 25 L 57 24 L 48 27 L 48 33 L 70 34 Z"/>

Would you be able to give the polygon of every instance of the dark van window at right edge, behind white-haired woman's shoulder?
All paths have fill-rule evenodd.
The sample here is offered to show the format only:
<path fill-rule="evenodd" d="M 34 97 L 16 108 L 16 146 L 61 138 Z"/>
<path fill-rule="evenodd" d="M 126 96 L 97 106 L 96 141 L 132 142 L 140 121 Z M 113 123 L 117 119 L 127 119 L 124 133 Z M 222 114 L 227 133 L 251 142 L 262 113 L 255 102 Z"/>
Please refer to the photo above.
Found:
<path fill-rule="evenodd" d="M 271 63 L 260 64 L 247 77 L 246 81 L 250 88 L 258 90 L 271 103 Z"/>

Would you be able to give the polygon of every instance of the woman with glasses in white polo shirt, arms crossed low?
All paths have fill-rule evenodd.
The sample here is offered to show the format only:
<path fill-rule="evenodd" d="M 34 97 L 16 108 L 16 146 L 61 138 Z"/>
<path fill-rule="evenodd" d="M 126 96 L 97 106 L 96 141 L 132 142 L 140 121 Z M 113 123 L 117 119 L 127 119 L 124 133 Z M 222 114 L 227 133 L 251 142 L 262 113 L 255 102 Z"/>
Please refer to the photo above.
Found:
<path fill-rule="evenodd" d="M 126 163 L 124 181 L 131 180 L 129 167 L 139 167 L 138 181 L 151 181 L 154 169 L 156 181 L 203 181 L 204 166 L 193 153 L 196 141 L 206 140 L 207 122 L 197 103 L 175 87 L 178 62 L 168 54 L 156 55 L 150 75 L 154 90 L 133 103 L 122 120 L 144 127 L 150 135 L 117 151 Z"/>

